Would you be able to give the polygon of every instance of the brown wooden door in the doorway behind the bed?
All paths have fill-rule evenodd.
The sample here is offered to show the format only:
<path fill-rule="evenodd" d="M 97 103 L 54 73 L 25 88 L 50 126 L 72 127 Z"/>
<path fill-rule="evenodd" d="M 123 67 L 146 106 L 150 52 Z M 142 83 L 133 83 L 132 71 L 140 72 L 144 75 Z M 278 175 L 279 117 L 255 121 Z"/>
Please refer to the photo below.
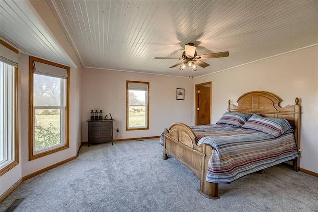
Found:
<path fill-rule="evenodd" d="M 211 83 L 197 85 L 196 125 L 211 124 Z"/>

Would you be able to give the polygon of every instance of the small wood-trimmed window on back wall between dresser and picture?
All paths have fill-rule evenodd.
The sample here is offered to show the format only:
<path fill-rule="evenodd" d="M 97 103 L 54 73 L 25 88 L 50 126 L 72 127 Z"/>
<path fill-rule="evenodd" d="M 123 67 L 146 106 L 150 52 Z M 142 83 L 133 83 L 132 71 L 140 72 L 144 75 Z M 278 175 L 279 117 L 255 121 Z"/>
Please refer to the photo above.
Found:
<path fill-rule="evenodd" d="M 149 83 L 126 82 L 126 130 L 149 129 Z"/>

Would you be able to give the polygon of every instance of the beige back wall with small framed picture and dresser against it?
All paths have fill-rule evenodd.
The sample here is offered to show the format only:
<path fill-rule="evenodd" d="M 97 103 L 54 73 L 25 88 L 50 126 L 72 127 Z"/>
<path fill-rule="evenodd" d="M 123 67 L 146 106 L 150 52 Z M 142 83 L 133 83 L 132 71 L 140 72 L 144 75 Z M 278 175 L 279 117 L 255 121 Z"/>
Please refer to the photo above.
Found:
<path fill-rule="evenodd" d="M 149 82 L 149 130 L 126 131 L 126 80 Z M 176 100 L 176 89 L 185 89 L 185 100 Z M 178 121 L 193 125 L 193 79 L 153 74 L 85 68 L 83 72 L 82 140 L 87 142 L 90 108 L 104 109 L 115 119 L 116 139 L 159 136 Z M 185 115 L 186 114 L 186 115 Z M 114 130 L 114 137 L 117 132 Z"/>

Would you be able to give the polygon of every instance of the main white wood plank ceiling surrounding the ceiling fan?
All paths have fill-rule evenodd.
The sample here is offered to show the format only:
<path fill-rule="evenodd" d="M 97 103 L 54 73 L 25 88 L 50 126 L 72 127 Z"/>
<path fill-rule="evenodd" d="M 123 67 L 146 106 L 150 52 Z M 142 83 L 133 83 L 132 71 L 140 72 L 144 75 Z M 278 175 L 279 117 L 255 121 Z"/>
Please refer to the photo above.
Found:
<path fill-rule="evenodd" d="M 84 67 L 198 77 L 318 44 L 317 0 L 47 3 Z M 181 57 L 189 42 L 199 55 L 230 55 L 205 59 L 210 66 L 195 72 L 169 68 L 178 60 L 154 59 Z"/>

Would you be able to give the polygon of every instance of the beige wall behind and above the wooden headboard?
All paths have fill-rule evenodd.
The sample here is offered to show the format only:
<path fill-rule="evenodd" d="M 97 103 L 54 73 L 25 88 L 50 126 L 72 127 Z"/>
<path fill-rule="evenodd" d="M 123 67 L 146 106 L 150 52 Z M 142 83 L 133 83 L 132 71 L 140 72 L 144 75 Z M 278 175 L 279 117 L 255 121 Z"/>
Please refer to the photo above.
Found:
<path fill-rule="evenodd" d="M 278 95 L 282 107 L 300 98 L 300 167 L 318 173 L 318 46 L 239 66 L 195 79 L 212 81 L 212 123 L 227 111 L 228 100 L 245 92 L 263 90 Z"/>

